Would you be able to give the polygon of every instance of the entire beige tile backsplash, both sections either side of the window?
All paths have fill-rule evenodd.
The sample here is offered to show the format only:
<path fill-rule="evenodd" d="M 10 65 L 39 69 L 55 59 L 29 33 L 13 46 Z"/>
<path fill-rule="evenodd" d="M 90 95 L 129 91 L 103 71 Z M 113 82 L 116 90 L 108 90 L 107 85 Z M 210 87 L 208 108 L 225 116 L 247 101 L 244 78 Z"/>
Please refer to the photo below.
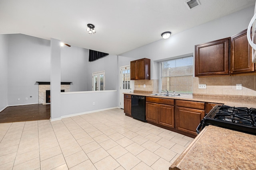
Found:
<path fill-rule="evenodd" d="M 198 84 L 206 84 L 206 89 L 199 89 Z M 236 84 L 242 84 L 242 90 L 236 90 Z M 158 80 L 135 80 L 134 91 L 157 93 Z M 193 94 L 256 96 L 256 75 L 194 77 Z"/>

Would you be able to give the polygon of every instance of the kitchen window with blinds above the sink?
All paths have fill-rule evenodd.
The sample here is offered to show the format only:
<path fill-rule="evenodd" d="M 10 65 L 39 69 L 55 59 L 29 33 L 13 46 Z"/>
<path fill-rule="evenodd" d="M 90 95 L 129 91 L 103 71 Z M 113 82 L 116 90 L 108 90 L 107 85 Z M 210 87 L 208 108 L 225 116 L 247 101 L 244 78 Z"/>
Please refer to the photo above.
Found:
<path fill-rule="evenodd" d="M 193 92 L 193 56 L 161 62 L 161 90 Z"/>

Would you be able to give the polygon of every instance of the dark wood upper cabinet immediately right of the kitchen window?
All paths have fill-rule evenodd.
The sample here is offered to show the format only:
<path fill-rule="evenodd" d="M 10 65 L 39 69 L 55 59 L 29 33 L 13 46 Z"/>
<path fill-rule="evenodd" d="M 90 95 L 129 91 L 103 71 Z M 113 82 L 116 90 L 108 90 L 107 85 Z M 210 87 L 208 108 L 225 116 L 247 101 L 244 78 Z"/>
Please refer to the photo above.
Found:
<path fill-rule="evenodd" d="M 230 37 L 195 45 L 195 76 L 230 74 L 229 49 Z"/>

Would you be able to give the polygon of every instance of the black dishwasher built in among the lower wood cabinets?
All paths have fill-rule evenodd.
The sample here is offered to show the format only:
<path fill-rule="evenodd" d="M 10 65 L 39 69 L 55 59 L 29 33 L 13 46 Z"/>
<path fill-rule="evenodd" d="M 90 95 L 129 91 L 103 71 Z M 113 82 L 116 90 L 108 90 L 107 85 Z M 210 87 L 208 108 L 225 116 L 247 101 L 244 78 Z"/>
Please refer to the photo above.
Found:
<path fill-rule="evenodd" d="M 146 122 L 145 114 L 146 97 L 132 95 L 132 117 Z"/>

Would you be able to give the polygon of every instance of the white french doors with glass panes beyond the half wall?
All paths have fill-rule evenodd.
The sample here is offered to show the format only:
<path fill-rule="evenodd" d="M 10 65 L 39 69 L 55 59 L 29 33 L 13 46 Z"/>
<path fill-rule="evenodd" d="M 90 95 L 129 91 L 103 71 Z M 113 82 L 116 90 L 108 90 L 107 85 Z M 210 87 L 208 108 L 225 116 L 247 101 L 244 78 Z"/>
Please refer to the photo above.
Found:
<path fill-rule="evenodd" d="M 105 71 L 92 73 L 92 91 L 105 90 Z"/>

